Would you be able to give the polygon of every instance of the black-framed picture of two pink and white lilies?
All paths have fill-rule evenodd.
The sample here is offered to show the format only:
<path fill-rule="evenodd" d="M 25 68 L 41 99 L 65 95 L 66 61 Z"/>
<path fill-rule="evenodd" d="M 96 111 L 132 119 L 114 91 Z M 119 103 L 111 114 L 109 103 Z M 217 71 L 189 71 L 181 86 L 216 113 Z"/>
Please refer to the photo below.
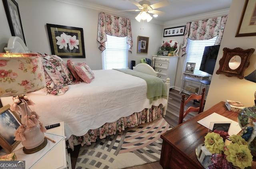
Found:
<path fill-rule="evenodd" d="M 62 58 L 85 58 L 83 28 L 54 24 L 46 24 L 46 26 L 53 55 L 58 55 Z M 58 40 L 56 39 L 56 37 L 76 37 L 76 41 L 78 42 L 78 44 L 74 45 L 73 49 L 71 49 L 72 45 L 70 46 L 70 43 L 68 41 L 65 41 L 66 46 L 61 46 L 58 45 Z M 78 48 L 76 48 L 75 46 Z"/>

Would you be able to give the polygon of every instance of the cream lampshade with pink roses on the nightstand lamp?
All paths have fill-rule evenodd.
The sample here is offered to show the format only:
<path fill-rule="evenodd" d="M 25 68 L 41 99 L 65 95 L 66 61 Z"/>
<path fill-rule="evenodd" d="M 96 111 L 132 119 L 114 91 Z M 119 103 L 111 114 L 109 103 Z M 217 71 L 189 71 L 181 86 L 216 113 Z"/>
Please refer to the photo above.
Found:
<path fill-rule="evenodd" d="M 0 53 L 0 97 L 35 92 L 46 85 L 41 57 L 30 53 Z"/>

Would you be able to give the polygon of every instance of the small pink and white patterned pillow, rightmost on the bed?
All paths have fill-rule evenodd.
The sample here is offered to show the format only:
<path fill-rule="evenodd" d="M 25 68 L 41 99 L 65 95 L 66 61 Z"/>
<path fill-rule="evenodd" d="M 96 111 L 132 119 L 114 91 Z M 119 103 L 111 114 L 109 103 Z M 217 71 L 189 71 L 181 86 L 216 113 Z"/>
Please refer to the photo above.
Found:
<path fill-rule="evenodd" d="M 75 71 L 77 75 L 86 83 L 91 83 L 94 79 L 94 73 L 86 63 L 75 66 Z"/>

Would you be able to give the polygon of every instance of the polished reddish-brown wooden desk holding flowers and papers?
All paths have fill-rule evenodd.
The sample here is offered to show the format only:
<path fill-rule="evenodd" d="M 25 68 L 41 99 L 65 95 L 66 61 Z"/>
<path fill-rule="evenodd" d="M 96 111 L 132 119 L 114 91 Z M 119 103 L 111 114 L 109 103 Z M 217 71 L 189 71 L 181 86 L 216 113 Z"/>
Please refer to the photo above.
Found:
<path fill-rule="evenodd" d="M 203 169 L 196 157 L 196 147 L 204 143 L 208 129 L 197 122 L 214 112 L 237 122 L 238 114 L 228 111 L 225 102 L 219 102 L 162 134 L 160 165 L 163 169 Z M 255 160 L 251 169 L 256 169 Z"/>

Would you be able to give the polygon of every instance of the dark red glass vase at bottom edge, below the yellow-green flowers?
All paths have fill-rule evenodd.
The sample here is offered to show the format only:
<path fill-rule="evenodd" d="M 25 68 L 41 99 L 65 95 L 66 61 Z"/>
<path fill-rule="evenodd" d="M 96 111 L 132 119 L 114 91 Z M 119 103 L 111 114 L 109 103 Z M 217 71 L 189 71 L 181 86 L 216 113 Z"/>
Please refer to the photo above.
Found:
<path fill-rule="evenodd" d="M 212 165 L 206 169 L 232 169 L 232 163 L 228 162 L 224 154 L 212 154 L 211 162 Z"/>

